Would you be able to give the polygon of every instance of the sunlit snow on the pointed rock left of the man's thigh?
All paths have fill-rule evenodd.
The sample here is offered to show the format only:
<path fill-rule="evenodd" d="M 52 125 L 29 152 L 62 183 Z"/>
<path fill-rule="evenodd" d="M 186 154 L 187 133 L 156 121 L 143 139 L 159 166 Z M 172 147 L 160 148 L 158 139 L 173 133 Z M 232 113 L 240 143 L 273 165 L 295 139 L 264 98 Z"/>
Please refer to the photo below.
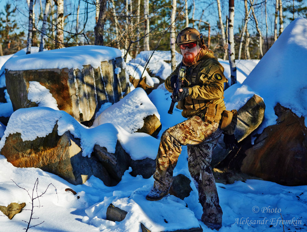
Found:
<path fill-rule="evenodd" d="M 143 119 L 146 116 L 153 114 L 160 120 L 160 115 L 146 92 L 142 88 L 136 88 L 119 102 L 103 111 L 95 119 L 93 126 L 112 123 L 129 133 L 133 133 L 143 127 Z"/>

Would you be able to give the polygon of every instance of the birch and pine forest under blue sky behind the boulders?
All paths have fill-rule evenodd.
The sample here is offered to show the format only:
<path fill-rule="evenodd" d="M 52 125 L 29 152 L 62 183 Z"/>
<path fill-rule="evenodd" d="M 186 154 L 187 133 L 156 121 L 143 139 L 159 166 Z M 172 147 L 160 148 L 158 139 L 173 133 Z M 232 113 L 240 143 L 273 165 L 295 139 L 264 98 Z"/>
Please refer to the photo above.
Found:
<path fill-rule="evenodd" d="M 227 22 L 231 4 L 232 25 Z M 124 58 L 127 52 L 136 57 L 143 50 L 174 49 L 172 33 L 190 26 L 224 60 L 227 31 L 233 27 L 235 58 L 260 59 L 283 28 L 297 17 L 307 18 L 307 1 L 0 0 L 0 12 L 1 56 L 25 48 L 29 37 L 28 46 L 39 47 L 43 37 L 45 49 L 95 44 L 125 49 Z"/>

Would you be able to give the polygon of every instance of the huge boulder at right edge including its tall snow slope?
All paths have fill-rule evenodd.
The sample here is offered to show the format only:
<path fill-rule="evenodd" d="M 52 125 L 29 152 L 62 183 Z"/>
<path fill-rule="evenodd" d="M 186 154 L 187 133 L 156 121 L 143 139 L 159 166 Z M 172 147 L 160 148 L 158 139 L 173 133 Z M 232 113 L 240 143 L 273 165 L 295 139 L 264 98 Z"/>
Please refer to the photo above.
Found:
<path fill-rule="evenodd" d="M 266 104 L 241 170 L 285 185 L 305 185 L 307 125 L 307 19 L 297 18 L 243 82 Z M 243 158 L 243 157 L 242 157 Z"/>

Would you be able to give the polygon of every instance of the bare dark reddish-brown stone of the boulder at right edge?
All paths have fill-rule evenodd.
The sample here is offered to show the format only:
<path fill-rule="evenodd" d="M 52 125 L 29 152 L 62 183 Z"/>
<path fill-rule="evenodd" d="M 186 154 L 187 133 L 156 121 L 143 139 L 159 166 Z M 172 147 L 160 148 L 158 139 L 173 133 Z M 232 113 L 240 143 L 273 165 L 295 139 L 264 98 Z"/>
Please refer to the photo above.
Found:
<path fill-rule="evenodd" d="M 274 107 L 277 124 L 265 128 L 245 151 L 241 171 L 282 185 L 307 184 L 307 128 L 279 103 Z"/>

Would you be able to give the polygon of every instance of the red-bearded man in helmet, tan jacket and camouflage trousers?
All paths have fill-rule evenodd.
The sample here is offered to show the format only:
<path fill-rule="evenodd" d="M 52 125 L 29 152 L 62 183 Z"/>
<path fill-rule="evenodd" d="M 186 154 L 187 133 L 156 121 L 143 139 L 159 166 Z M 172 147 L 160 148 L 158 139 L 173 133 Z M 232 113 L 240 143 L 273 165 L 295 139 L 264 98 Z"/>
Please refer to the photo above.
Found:
<path fill-rule="evenodd" d="M 224 68 L 204 44 L 203 35 L 195 28 L 187 27 L 177 35 L 176 44 L 187 67 L 177 108 L 182 110 L 182 116 L 187 120 L 163 132 L 153 175 L 153 189 L 146 199 L 156 201 L 168 194 L 181 146 L 187 145 L 188 168 L 203 206 L 201 220 L 212 230 L 219 230 L 223 211 L 210 162 L 212 150 L 222 133 L 227 147 L 233 149 L 236 146 L 233 135 L 236 117 L 232 117 L 236 116 L 236 111 L 228 111 L 228 114 L 225 111 L 223 89 L 227 79 L 223 74 Z M 165 88 L 169 92 L 173 92 L 180 66 L 165 80 Z M 234 122 L 233 125 L 230 125 L 231 122 Z"/>

